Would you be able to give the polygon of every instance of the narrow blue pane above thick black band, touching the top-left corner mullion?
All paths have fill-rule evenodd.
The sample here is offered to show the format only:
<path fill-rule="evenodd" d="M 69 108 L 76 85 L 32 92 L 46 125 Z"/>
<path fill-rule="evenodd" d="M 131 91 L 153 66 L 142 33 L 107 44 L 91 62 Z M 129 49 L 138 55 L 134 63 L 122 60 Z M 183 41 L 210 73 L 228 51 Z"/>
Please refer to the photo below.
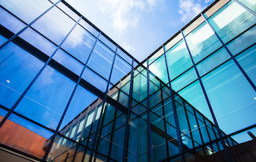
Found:
<path fill-rule="evenodd" d="M 20 38 L 27 41 L 49 57 L 52 55 L 53 51 L 56 49 L 56 45 L 51 43 L 51 41 L 47 40 L 38 32 L 34 31 L 32 28 L 27 28 L 22 32 L 20 35 Z"/>

